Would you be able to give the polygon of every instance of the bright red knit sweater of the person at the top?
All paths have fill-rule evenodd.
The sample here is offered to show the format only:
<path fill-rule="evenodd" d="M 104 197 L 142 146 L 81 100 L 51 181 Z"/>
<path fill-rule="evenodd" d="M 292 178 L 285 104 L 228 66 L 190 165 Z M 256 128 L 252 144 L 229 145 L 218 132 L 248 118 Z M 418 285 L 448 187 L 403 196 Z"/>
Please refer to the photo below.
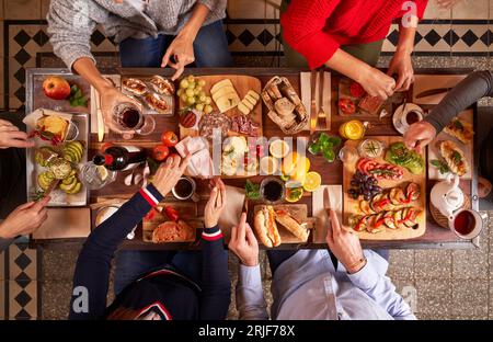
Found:
<path fill-rule="evenodd" d="M 291 0 L 280 16 L 284 39 L 313 69 L 328 61 L 341 45 L 383 39 L 392 21 L 406 12 L 406 0 Z M 423 18 L 427 0 L 414 0 Z"/>

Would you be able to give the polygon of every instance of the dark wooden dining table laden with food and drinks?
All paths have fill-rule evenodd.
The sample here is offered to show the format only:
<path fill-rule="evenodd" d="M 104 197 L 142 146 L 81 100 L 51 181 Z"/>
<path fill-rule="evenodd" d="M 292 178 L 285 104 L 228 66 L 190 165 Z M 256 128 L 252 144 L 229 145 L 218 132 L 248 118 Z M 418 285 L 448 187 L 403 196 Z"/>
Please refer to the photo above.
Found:
<path fill-rule="evenodd" d="M 27 70 L 27 78 L 30 78 L 31 72 L 35 72 L 36 69 Z M 56 71 L 60 72 L 61 69 L 51 69 L 53 73 Z M 250 75 L 257 77 L 262 84 L 265 84 L 266 81 L 268 81 L 273 76 L 285 76 L 289 79 L 293 87 L 298 91 L 299 93 L 299 72 L 300 71 L 308 71 L 302 69 L 291 69 L 291 68 L 228 68 L 228 69 L 186 69 L 185 75 L 193 73 L 196 76 L 200 75 Z M 447 69 L 447 70 L 438 70 L 438 69 L 422 69 L 422 70 L 415 70 L 415 73 L 469 73 L 471 70 L 466 69 Z M 110 73 L 110 72 L 108 72 Z M 127 69 L 119 69 L 115 73 L 121 75 L 131 75 L 131 76 L 142 76 L 142 75 L 164 75 L 170 76 L 172 72 L 170 69 L 148 69 L 148 68 L 127 68 Z M 332 72 L 332 130 L 330 133 L 337 134 L 339 126 L 347 121 L 347 117 L 342 117 L 337 115 L 337 107 L 336 107 L 336 99 L 337 99 L 337 88 L 339 88 L 339 80 L 340 76 L 337 73 Z M 30 92 L 30 89 L 27 89 L 27 94 Z M 410 96 L 411 93 L 408 95 Z M 27 95 L 27 101 L 31 101 L 32 96 Z M 410 100 L 410 98 L 409 98 Z M 410 100 L 411 101 L 411 100 Z M 26 103 L 26 107 L 30 109 L 28 103 Z M 474 126 L 477 124 L 477 106 L 473 107 L 474 112 Z M 159 117 L 159 116 L 158 116 Z M 367 135 L 399 135 L 399 133 L 393 128 L 391 123 L 391 115 L 388 115 L 387 117 L 379 119 L 377 116 L 366 116 L 366 115 L 358 115 L 357 118 L 362 121 L 368 121 L 370 123 L 370 127 L 367 130 Z M 136 137 L 134 140 L 123 140 L 121 136 L 110 133 L 105 136 L 104 141 L 113 141 L 113 142 L 126 142 L 131 144 L 135 146 L 141 146 L 144 148 L 152 148 L 157 145 L 157 141 L 160 139 L 160 135 L 164 130 L 174 130 L 179 132 L 177 121 L 176 117 L 164 117 L 161 116 L 157 121 L 157 128 L 153 134 L 149 136 L 140 136 Z M 474 127 L 475 130 L 475 127 Z M 266 109 L 263 107 L 263 132 L 264 136 L 267 138 L 271 137 L 284 137 L 285 135 L 283 132 L 266 116 Z M 309 132 L 302 132 L 300 134 L 297 134 L 298 136 L 308 136 Z M 96 142 L 96 135 L 93 134 L 91 136 L 91 150 L 90 156 L 92 156 L 100 147 L 101 142 Z M 475 135 L 474 135 L 474 146 L 475 146 Z M 473 178 L 472 181 L 466 181 L 462 186 L 471 194 L 471 202 L 472 202 L 472 208 L 478 209 L 479 207 L 479 200 L 477 196 L 477 166 L 478 163 L 478 155 L 474 153 L 474 162 L 473 162 Z M 310 158 L 311 168 L 310 170 L 317 171 L 322 175 L 322 184 L 342 184 L 342 163 L 340 161 L 335 161 L 333 163 L 328 163 L 323 158 L 321 157 L 313 157 L 307 153 Z M 95 202 L 98 198 L 102 197 L 121 197 L 121 198 L 128 198 L 130 197 L 137 190 L 137 186 L 126 186 L 123 184 L 123 178 L 124 174 L 118 175 L 118 179 L 116 182 L 112 183 L 111 185 L 103 187 L 99 191 L 91 192 L 91 202 Z M 262 176 L 254 176 L 252 178 L 252 181 L 260 182 L 262 180 Z M 244 186 L 244 179 L 234 179 L 234 180 L 226 180 L 225 181 L 229 185 L 233 186 Z M 428 181 L 427 189 L 428 192 L 431 187 L 433 186 L 433 182 Z M 198 203 L 198 213 L 203 213 L 204 205 L 207 201 L 208 195 L 208 189 L 207 189 L 207 182 L 206 181 L 198 181 L 197 182 L 197 193 L 200 196 L 200 202 Z M 428 195 L 428 194 L 427 194 Z M 165 201 L 170 201 L 171 196 L 168 196 Z M 427 201 L 429 203 L 429 200 Z M 303 197 L 298 202 L 300 204 L 307 204 L 308 206 L 308 214 L 311 215 L 311 194 L 305 193 Z M 250 207 L 253 208 L 253 205 L 255 203 L 251 203 Z M 428 210 L 428 208 L 427 208 Z M 250 210 L 252 212 L 252 210 Z M 250 214 L 251 215 L 251 214 Z M 94 215 L 93 215 L 94 216 Z M 252 217 L 249 218 L 250 221 L 252 221 Z M 43 241 L 32 241 L 32 244 L 59 244 L 59 243 L 71 243 L 71 242 L 80 242 L 80 239 L 57 239 L 57 240 L 43 240 Z M 410 240 L 397 240 L 397 241 L 362 241 L 363 246 L 366 248 L 385 248 L 385 249 L 467 249 L 467 248 L 473 248 L 474 246 L 478 247 L 479 244 L 479 238 L 475 238 L 473 240 L 461 240 L 457 238 L 449 229 L 444 229 L 438 227 L 429 214 L 429 210 L 427 213 L 427 227 L 426 232 L 415 239 Z M 167 243 L 167 244 L 153 244 L 153 243 L 146 243 L 141 241 L 141 229 L 137 229 L 136 237 L 134 240 L 126 240 L 123 243 L 123 248 L 127 249 L 191 249 L 195 248 L 195 243 Z M 280 246 L 279 249 L 299 249 L 299 248 L 326 248 L 326 244 L 324 243 L 307 243 L 307 244 L 285 244 Z"/>

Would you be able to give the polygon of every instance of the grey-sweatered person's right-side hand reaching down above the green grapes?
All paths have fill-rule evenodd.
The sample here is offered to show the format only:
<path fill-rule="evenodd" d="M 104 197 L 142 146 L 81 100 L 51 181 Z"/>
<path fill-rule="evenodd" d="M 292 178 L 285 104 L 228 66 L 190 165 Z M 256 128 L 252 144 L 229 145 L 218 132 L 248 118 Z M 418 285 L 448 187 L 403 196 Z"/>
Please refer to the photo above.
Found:
<path fill-rule="evenodd" d="M 171 60 L 174 58 L 174 62 Z M 179 35 L 171 42 L 170 46 L 162 58 L 161 68 L 170 66 L 176 71 L 171 77 L 171 80 L 176 80 L 185 70 L 185 66 L 194 62 L 194 38 L 184 32 L 179 33 Z"/>

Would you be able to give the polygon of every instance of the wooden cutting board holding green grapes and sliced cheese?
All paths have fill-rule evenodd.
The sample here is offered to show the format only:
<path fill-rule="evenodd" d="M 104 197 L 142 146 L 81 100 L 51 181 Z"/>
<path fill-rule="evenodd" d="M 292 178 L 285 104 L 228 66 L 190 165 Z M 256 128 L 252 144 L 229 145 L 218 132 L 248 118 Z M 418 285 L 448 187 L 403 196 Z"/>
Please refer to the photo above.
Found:
<path fill-rule="evenodd" d="M 243 100 L 244 95 L 246 95 L 246 93 L 249 92 L 249 90 L 253 90 L 254 92 L 256 92 L 259 95 L 261 93 L 262 90 L 262 84 L 261 81 L 255 78 L 255 77 L 251 77 L 251 76 L 243 76 L 243 75 L 215 75 L 215 76 L 198 76 L 197 77 L 200 80 L 206 81 L 206 84 L 204 87 L 204 91 L 206 92 L 206 94 L 208 96 L 210 95 L 210 88 L 219 82 L 222 81 L 225 79 L 230 79 L 234 89 L 238 92 L 238 95 L 240 96 L 240 100 Z M 213 101 L 213 107 L 215 111 L 217 111 L 217 106 L 216 103 L 214 103 Z M 184 103 L 180 100 L 179 103 L 179 109 L 183 109 L 185 105 Z M 237 107 L 231 109 L 229 111 L 227 111 L 225 113 L 226 115 L 228 115 L 229 117 L 233 117 L 237 115 L 243 115 Z M 255 122 L 256 124 L 260 125 L 260 129 L 259 129 L 259 135 L 262 136 L 262 99 L 259 99 L 259 102 L 256 103 L 256 105 L 253 107 L 253 111 L 250 112 L 249 117 Z M 237 135 L 234 133 L 230 133 L 230 135 Z M 197 129 L 191 129 L 191 128 L 185 128 L 182 127 L 180 125 L 180 138 L 183 139 L 184 137 L 187 136 L 198 136 L 198 130 Z"/>

